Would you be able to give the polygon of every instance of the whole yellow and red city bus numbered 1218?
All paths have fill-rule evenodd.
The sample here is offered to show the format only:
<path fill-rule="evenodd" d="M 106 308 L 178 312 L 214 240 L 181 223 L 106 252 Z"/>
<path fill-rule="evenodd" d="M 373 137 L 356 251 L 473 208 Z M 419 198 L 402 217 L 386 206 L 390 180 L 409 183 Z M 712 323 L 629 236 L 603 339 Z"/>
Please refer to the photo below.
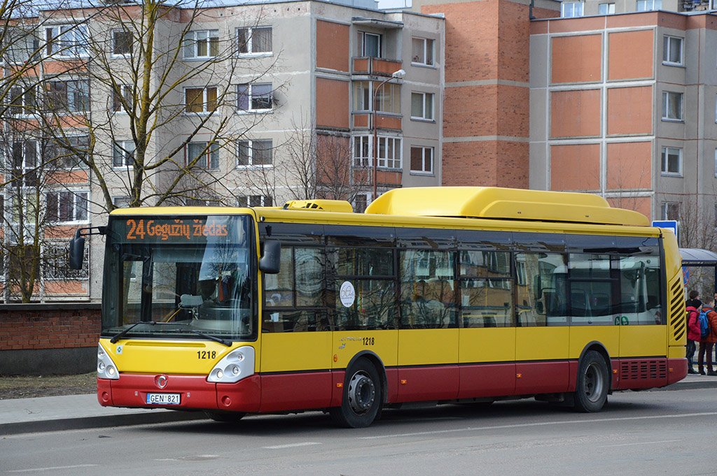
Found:
<path fill-rule="evenodd" d="M 687 374 L 678 245 L 647 224 L 597 195 L 504 188 L 391 190 L 366 213 L 114 210 L 98 399 L 346 427 L 406 402 L 596 412 Z"/>

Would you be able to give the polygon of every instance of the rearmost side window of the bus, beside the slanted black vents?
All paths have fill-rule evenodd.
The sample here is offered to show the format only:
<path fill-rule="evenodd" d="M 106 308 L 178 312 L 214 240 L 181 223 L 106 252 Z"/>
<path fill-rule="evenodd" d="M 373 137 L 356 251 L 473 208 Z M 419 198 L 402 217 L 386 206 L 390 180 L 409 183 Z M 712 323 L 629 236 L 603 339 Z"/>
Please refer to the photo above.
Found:
<path fill-rule="evenodd" d="M 620 258 L 621 325 L 662 324 L 659 266 L 657 255 Z"/>

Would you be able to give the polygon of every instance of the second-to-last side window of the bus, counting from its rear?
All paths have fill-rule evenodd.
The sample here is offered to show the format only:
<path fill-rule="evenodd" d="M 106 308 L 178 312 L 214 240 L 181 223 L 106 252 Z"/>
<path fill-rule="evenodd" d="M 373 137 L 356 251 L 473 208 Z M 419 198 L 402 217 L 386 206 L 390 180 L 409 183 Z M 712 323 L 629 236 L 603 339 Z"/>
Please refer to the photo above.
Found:
<path fill-rule="evenodd" d="M 610 256 L 574 253 L 569 262 L 571 324 L 612 325 Z"/>

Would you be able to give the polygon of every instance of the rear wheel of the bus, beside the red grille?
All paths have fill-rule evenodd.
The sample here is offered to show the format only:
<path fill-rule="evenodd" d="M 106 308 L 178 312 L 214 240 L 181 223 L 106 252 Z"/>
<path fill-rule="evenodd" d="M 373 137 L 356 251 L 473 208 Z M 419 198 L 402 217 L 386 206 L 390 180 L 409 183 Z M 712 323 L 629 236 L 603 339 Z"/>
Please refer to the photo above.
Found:
<path fill-rule="evenodd" d="M 602 354 L 587 351 L 578 366 L 574 406 L 579 412 L 599 412 L 607 402 L 609 372 Z"/>

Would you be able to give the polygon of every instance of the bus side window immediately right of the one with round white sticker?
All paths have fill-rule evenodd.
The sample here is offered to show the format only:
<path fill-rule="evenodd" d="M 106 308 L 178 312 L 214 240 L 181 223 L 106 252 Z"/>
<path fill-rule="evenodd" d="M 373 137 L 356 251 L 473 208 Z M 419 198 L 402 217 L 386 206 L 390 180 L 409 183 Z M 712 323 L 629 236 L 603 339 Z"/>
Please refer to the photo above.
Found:
<path fill-rule="evenodd" d="M 455 272 L 450 251 L 399 253 L 401 319 L 409 329 L 455 326 Z"/>

